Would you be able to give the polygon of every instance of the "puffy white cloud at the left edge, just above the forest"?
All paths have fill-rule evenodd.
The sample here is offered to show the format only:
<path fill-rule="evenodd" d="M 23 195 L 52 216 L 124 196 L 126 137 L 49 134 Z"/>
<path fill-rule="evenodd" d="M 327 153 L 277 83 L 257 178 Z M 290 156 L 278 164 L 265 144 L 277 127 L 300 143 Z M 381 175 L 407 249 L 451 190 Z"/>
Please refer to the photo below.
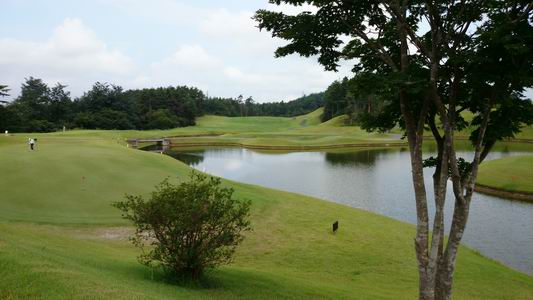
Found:
<path fill-rule="evenodd" d="M 0 39 L 0 68 L 0 80 L 11 86 L 37 76 L 87 89 L 92 80 L 128 76 L 135 65 L 122 52 L 109 49 L 81 20 L 67 18 L 44 42 Z"/>

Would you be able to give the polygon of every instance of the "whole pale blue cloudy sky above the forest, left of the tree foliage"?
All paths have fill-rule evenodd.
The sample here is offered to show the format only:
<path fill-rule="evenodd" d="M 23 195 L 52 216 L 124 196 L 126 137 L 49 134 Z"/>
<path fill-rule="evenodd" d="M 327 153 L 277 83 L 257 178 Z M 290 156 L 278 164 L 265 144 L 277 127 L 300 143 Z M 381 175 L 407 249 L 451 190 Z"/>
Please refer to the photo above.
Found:
<path fill-rule="evenodd" d="M 99 82 L 125 89 L 188 85 L 209 96 L 288 101 L 350 75 L 316 58 L 274 58 L 284 41 L 260 32 L 267 0 L 2 0 L 0 84 L 11 97 L 30 76 L 75 97 Z M 306 9 L 306 8 L 303 8 Z M 309 8 L 307 8 L 309 9 Z"/>

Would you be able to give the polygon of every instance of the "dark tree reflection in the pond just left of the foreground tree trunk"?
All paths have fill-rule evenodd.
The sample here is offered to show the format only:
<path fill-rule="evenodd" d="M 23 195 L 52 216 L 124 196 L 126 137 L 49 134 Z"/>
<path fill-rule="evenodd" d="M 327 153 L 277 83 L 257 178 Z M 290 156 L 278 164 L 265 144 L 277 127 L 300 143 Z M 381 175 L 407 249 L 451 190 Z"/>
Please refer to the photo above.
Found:
<path fill-rule="evenodd" d="M 331 165 L 373 166 L 382 154 L 398 149 L 371 149 L 354 152 L 326 152 L 326 161 Z"/>

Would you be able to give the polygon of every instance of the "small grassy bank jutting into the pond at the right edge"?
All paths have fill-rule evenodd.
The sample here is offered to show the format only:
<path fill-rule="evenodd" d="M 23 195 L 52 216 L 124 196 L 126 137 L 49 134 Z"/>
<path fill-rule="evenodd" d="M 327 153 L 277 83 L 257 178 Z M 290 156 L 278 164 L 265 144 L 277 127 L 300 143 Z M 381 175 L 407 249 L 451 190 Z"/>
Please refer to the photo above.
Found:
<path fill-rule="evenodd" d="M 515 156 L 485 162 L 478 183 L 512 192 L 533 193 L 533 156 Z"/>

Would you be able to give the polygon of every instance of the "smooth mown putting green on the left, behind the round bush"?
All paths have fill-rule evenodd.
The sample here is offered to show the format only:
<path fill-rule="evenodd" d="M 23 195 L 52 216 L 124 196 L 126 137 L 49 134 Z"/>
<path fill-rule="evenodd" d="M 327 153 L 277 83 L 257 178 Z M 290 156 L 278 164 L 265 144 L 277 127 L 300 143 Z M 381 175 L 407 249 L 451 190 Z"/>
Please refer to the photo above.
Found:
<path fill-rule="evenodd" d="M 146 193 L 176 170 L 166 156 L 98 139 L 41 138 L 36 151 L 27 148 L 20 141 L 1 147 L 0 218 L 115 223 L 111 201 Z"/>

